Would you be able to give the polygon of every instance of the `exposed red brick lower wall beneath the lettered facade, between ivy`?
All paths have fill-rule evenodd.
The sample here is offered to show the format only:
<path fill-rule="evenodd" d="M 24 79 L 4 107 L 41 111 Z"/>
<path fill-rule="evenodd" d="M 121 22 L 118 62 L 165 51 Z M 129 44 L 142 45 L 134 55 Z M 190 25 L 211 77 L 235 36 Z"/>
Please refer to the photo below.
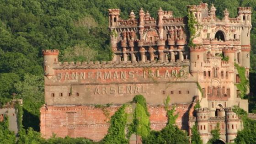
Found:
<path fill-rule="evenodd" d="M 179 117 L 177 125 L 188 129 L 188 109 L 190 104 L 176 106 L 176 113 Z M 106 113 L 102 108 L 94 106 L 47 106 L 42 107 L 40 117 L 40 129 L 44 138 L 50 138 L 53 133 L 57 137 L 83 137 L 99 141 L 104 138 L 109 128 L 110 117 L 120 106 L 106 107 Z M 167 123 L 166 111 L 163 106 L 149 106 L 151 128 L 161 130 Z"/>

